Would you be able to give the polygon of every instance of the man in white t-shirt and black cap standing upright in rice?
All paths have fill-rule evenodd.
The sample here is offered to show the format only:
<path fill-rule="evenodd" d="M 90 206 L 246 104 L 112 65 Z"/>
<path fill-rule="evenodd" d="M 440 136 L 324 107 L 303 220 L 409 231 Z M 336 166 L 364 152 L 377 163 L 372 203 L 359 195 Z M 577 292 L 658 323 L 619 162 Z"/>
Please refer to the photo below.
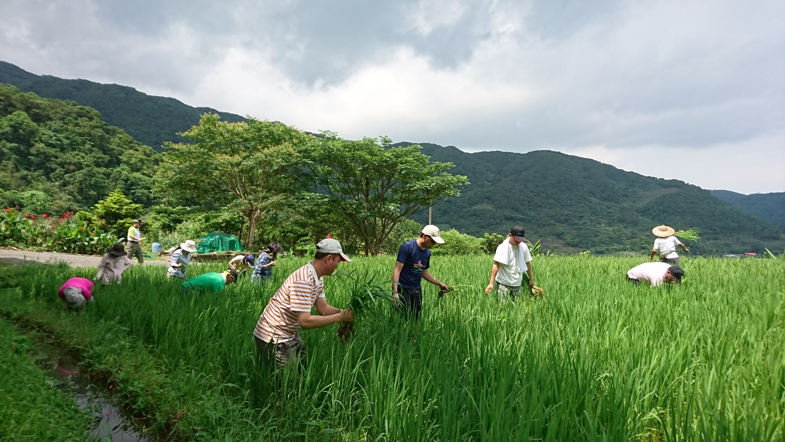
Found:
<path fill-rule="evenodd" d="M 503 301 L 506 294 L 513 300 L 520 292 L 524 272 L 528 276 L 529 287 L 535 285 L 531 276 L 531 253 L 524 243 L 525 231 L 520 225 L 509 229 L 509 236 L 496 247 L 491 268 L 491 282 L 485 287 L 485 293 L 491 293 L 496 283 L 498 300 Z"/>

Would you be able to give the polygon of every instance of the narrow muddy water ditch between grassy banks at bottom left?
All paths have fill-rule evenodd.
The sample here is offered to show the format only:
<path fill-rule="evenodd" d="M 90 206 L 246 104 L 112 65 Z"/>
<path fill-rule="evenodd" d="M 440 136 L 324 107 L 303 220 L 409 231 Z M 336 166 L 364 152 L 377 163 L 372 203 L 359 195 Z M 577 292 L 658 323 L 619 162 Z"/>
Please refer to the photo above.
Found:
<path fill-rule="evenodd" d="M 111 385 L 95 382 L 82 374 L 75 358 L 62 350 L 38 339 L 31 352 L 42 367 L 49 371 L 51 382 L 70 394 L 82 409 L 87 409 L 96 419 L 93 436 L 112 442 L 153 442 L 158 440 L 147 433 L 144 423 L 133 418 L 130 410 L 121 407 L 111 392 Z"/>

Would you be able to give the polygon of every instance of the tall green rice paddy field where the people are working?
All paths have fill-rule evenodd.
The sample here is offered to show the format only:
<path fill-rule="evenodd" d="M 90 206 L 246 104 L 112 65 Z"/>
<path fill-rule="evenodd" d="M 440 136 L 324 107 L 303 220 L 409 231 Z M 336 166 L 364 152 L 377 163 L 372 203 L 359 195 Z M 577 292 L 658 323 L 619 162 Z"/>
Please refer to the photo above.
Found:
<path fill-rule="evenodd" d="M 433 276 L 470 287 L 438 298 L 423 282 L 418 323 L 367 309 L 348 345 L 338 324 L 301 331 L 300 370 L 270 374 L 252 330 L 305 263 L 278 262 L 271 283 L 217 295 L 181 294 L 162 268 L 134 266 L 67 318 L 57 289 L 95 270 L 41 267 L 0 301 L 12 316 L 81 323 L 129 361 L 152 355 L 170 393 L 139 407 L 175 439 L 785 439 L 785 260 L 683 258 L 681 286 L 651 288 L 626 281 L 642 258 L 541 257 L 546 296 L 500 303 L 484 294 L 489 256 L 434 257 Z M 356 258 L 338 272 L 386 283 L 393 262 Z M 331 305 L 349 302 L 353 279 L 326 281 Z M 151 389 L 134 387 L 137 375 L 118 375 L 121 393 L 143 404 Z"/>

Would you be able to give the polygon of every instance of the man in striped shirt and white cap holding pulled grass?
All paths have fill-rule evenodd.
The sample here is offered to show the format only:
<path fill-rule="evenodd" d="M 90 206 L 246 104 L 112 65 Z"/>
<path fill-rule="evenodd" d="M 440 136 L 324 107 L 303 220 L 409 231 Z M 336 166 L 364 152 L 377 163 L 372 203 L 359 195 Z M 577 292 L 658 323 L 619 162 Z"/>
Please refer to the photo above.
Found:
<path fill-rule="evenodd" d="M 254 340 L 261 357 L 268 365 L 294 367 L 305 356 L 305 346 L 298 331 L 301 328 L 327 327 L 354 320 L 349 309 L 336 309 L 324 298 L 323 276 L 330 276 L 341 261 L 352 262 L 335 239 L 322 239 L 316 244 L 313 261 L 294 271 L 278 289 L 259 316 Z M 316 305 L 319 315 L 312 315 Z"/>

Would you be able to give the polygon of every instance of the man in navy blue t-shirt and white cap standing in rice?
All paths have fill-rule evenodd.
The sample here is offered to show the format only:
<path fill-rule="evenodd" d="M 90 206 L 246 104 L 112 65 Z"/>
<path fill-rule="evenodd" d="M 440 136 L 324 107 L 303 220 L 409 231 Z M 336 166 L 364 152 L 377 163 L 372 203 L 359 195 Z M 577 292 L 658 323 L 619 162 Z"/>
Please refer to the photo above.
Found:
<path fill-rule="evenodd" d="M 428 272 L 431 247 L 436 243 L 444 243 L 444 239 L 439 236 L 439 228 L 435 225 L 426 225 L 418 239 L 407 241 L 398 249 L 395 269 L 392 270 L 392 296 L 398 300 L 400 312 L 406 318 L 414 316 L 416 320 L 420 316 L 422 310 L 420 280 L 422 278 L 439 286 L 442 293 L 450 290 L 447 284 L 440 282 Z M 400 290 L 398 286 L 400 286 Z"/>

